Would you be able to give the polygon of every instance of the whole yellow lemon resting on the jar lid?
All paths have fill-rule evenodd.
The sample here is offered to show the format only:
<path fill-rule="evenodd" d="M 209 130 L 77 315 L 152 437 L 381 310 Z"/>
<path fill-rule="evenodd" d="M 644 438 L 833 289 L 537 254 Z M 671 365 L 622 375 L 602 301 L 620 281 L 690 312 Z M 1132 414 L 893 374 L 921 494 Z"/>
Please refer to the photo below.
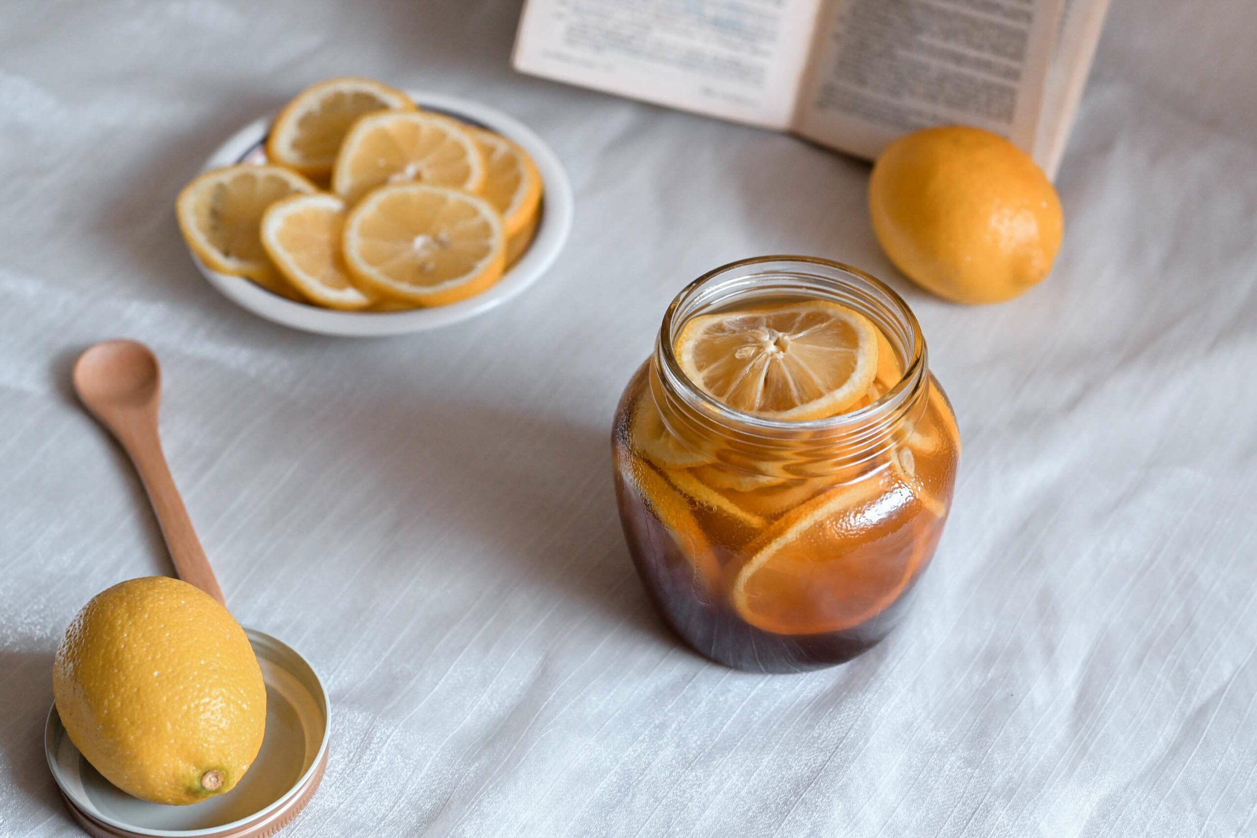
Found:
<path fill-rule="evenodd" d="M 167 577 L 116 584 L 83 607 L 57 650 L 53 697 L 87 761 L 153 803 L 230 792 L 266 725 L 244 629 L 212 597 Z"/>

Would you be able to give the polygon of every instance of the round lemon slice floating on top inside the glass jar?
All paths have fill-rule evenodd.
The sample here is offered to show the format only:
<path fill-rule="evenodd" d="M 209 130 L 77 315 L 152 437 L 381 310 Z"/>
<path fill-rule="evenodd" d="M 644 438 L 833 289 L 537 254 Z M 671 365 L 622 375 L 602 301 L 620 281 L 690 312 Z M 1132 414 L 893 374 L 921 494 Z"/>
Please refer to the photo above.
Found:
<path fill-rule="evenodd" d="M 695 317 L 676 339 L 676 359 L 722 403 L 778 421 L 841 413 L 877 373 L 877 329 L 826 300 Z"/>

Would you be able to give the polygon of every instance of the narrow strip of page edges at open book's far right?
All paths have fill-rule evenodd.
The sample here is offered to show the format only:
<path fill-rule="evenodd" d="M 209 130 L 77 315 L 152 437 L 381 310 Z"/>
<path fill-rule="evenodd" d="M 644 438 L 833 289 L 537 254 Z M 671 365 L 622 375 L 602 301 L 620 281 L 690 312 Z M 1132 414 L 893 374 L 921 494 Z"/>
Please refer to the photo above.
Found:
<path fill-rule="evenodd" d="M 1043 117 L 1035 146 L 1035 160 L 1041 161 L 1052 180 L 1056 180 L 1065 157 L 1070 128 L 1079 113 L 1107 11 L 1109 0 L 1065 0 L 1061 35 L 1047 74 Z"/>

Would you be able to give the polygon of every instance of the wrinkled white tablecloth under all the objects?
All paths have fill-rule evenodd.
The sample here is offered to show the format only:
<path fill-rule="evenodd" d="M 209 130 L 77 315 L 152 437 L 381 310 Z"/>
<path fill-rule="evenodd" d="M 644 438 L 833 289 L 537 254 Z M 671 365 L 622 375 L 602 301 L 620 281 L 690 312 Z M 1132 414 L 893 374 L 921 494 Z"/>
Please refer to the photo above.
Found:
<path fill-rule="evenodd" d="M 44 766 L 60 633 L 168 573 L 74 403 L 150 343 L 176 479 L 239 619 L 331 690 L 302 835 L 1257 834 L 1257 50 L 1251 0 L 1117 0 L 1021 299 L 879 253 L 867 166 L 524 78 L 517 3 L 0 6 L 0 834 L 75 827 Z M 479 98 L 571 173 L 572 240 L 510 305 L 318 338 L 236 308 L 175 226 L 235 127 L 356 73 Z M 964 436 L 916 608 L 755 676 L 680 647 L 630 565 L 608 426 L 688 280 L 764 253 L 889 278 Z"/>

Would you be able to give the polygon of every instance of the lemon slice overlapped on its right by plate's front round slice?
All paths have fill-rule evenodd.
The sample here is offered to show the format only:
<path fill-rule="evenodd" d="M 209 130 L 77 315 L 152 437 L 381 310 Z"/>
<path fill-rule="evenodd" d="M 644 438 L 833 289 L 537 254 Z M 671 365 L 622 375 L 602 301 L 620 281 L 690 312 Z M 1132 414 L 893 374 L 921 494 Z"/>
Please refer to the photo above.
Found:
<path fill-rule="evenodd" d="M 334 195 L 290 195 L 261 216 L 261 244 L 275 268 L 310 302 L 353 312 L 373 295 L 358 290 L 341 253 L 344 202 Z"/>

